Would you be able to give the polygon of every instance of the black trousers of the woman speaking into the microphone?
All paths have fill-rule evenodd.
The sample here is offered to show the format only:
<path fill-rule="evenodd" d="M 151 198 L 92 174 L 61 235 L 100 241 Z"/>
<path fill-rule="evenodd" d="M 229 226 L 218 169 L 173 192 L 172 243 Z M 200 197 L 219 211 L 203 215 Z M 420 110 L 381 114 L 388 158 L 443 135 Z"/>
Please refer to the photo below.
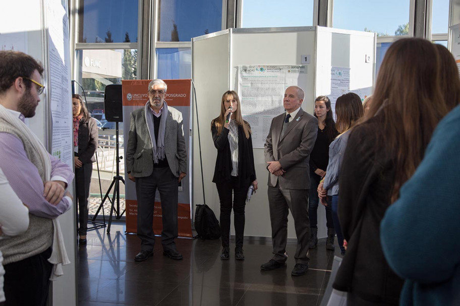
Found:
<path fill-rule="evenodd" d="M 245 205 L 248 186 L 240 187 L 237 176 L 224 183 L 216 183 L 220 200 L 220 232 L 222 247 L 228 248 L 230 236 L 230 215 L 234 213 L 235 239 L 238 248 L 243 247 Z M 233 193 L 233 201 L 232 201 Z M 233 205 L 232 205 L 233 204 Z"/>

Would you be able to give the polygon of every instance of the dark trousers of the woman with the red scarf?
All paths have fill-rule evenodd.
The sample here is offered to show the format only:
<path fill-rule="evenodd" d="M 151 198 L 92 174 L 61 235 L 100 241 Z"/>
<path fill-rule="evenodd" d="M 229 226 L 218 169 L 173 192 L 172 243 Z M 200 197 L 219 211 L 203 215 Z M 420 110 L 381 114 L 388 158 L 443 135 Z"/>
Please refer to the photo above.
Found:
<path fill-rule="evenodd" d="M 75 194 L 77 195 L 78 219 L 80 226 L 78 227 L 78 235 L 86 236 L 88 230 L 88 208 L 89 208 L 89 186 L 91 184 L 91 173 L 93 172 L 93 164 L 83 164 L 81 168 L 75 168 Z M 78 222 L 77 222 L 78 224 Z"/>

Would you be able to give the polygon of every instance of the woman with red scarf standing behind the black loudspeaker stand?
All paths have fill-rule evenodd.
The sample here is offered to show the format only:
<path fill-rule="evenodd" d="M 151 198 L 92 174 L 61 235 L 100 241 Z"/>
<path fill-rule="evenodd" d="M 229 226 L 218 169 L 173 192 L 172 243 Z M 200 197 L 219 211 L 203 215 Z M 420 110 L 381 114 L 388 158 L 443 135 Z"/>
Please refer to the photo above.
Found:
<path fill-rule="evenodd" d="M 86 245 L 88 229 L 89 186 L 94 153 L 98 145 L 98 130 L 96 121 L 89 115 L 88 109 L 80 95 L 72 95 L 72 114 L 74 116 L 74 163 L 75 163 L 75 194 L 79 210 L 80 226 L 78 240 L 80 245 Z"/>

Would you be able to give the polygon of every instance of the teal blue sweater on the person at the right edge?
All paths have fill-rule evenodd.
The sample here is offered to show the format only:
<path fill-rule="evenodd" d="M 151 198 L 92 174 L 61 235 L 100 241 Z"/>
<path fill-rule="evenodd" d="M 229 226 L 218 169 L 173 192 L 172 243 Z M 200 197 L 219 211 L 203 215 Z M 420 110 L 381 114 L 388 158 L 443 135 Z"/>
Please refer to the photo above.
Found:
<path fill-rule="evenodd" d="M 437 126 L 425 158 L 380 224 L 401 305 L 460 305 L 460 106 Z"/>

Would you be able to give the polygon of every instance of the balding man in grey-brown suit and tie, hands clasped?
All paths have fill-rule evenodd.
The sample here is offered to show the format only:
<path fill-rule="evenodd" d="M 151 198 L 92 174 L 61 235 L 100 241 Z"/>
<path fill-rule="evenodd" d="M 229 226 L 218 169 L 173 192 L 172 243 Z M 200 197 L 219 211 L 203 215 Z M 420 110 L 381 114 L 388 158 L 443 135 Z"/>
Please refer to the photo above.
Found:
<path fill-rule="evenodd" d="M 273 118 L 265 141 L 274 255 L 260 268 L 273 270 L 286 265 L 287 214 L 291 210 L 297 235 L 296 265 L 291 273 L 294 276 L 307 273 L 310 260 L 309 159 L 318 130 L 318 120 L 301 108 L 304 97 L 300 87 L 286 89 L 283 99 L 286 112 Z"/>

